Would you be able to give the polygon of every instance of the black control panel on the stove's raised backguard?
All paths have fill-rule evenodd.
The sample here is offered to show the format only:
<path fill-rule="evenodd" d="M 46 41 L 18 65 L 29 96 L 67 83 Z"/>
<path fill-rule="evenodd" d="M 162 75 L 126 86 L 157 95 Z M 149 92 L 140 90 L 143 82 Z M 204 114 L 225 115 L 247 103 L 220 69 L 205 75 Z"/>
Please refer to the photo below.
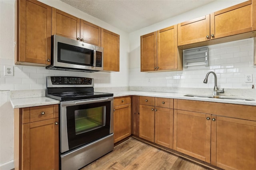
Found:
<path fill-rule="evenodd" d="M 92 78 L 51 77 L 52 85 L 92 85 Z"/>

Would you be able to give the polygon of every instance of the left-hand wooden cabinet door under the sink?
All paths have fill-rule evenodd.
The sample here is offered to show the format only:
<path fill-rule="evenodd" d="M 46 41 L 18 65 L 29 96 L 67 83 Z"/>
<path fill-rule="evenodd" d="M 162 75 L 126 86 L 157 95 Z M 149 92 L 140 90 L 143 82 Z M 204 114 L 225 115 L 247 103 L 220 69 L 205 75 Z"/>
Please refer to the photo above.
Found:
<path fill-rule="evenodd" d="M 174 150 L 210 163 L 210 130 L 210 115 L 174 110 Z"/>

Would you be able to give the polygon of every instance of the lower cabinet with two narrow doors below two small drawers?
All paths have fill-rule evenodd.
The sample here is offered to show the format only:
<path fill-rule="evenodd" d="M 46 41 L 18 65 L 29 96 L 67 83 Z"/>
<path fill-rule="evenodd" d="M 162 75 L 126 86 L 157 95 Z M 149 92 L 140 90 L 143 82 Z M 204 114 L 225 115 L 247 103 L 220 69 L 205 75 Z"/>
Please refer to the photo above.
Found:
<path fill-rule="evenodd" d="M 170 108 L 173 99 L 140 96 L 140 138 L 172 148 L 173 109 Z"/>

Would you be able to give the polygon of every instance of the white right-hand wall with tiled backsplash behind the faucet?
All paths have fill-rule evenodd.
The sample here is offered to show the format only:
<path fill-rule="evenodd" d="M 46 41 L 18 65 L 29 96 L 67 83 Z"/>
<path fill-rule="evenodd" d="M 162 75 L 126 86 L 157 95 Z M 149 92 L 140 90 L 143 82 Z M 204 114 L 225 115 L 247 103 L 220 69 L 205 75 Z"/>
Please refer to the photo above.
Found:
<path fill-rule="evenodd" d="M 207 84 L 203 80 L 208 71 L 214 71 L 218 77 L 218 87 L 251 89 L 256 82 L 256 67 L 253 65 L 253 38 L 210 45 L 210 65 L 194 66 L 183 71 L 166 71 L 146 73 L 140 72 L 140 36 L 190 20 L 211 12 L 224 9 L 242 1 L 216 1 L 182 15 L 159 22 L 130 34 L 130 81 L 131 87 L 194 87 L 213 88 L 213 76 L 209 76 Z M 245 83 L 245 74 L 253 74 L 253 83 Z M 159 88 L 158 88 L 159 89 Z"/>

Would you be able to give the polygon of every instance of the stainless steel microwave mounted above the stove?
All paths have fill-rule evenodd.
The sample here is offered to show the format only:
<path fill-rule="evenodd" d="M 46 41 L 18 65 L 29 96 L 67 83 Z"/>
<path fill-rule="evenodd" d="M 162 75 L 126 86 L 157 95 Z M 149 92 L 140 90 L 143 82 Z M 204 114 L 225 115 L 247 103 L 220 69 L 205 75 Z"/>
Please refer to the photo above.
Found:
<path fill-rule="evenodd" d="M 46 69 L 95 72 L 103 70 L 103 48 L 52 36 L 52 60 Z"/>

